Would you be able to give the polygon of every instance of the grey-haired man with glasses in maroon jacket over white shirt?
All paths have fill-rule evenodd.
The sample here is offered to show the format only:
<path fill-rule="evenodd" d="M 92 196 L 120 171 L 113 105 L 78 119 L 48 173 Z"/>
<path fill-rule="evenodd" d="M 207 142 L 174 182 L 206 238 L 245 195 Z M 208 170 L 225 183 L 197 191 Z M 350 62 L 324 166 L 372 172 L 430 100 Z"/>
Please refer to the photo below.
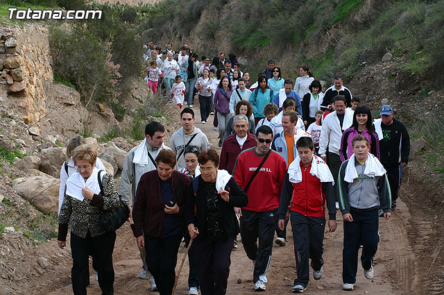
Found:
<path fill-rule="evenodd" d="M 232 174 L 239 153 L 256 146 L 255 135 L 248 133 L 249 126 L 246 115 L 234 116 L 234 134 L 223 141 L 219 169 L 225 169 Z"/>

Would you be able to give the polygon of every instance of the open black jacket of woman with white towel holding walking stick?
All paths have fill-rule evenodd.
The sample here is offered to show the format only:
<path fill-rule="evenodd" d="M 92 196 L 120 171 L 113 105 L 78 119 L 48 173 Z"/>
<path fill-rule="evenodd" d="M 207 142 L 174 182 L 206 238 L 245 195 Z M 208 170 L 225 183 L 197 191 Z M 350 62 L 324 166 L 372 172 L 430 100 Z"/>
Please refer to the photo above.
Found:
<path fill-rule="evenodd" d="M 196 195 L 194 189 L 197 185 Z M 248 196 L 239 187 L 234 178 L 230 178 L 225 190 L 230 192 L 229 202 L 221 201 L 222 225 L 228 237 L 234 237 L 239 233 L 239 223 L 237 222 L 234 207 L 244 207 L 248 205 Z M 221 198 L 220 195 L 218 195 Z M 202 176 L 194 178 L 185 194 L 185 224 L 194 224 L 199 230 L 198 238 L 203 236 L 207 220 L 207 196 L 205 195 L 205 183 Z"/>

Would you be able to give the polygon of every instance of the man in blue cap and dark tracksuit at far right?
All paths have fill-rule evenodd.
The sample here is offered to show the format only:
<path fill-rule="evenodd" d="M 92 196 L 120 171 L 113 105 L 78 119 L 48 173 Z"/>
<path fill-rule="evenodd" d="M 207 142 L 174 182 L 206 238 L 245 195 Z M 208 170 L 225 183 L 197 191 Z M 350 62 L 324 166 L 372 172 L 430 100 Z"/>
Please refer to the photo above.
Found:
<path fill-rule="evenodd" d="M 402 167 L 407 166 L 410 153 L 410 137 L 404 124 L 393 118 L 390 106 L 381 108 L 382 138 L 379 138 L 381 163 L 387 171 L 391 190 L 391 210 L 396 209 L 396 199 L 401 186 Z M 381 214 L 382 212 L 379 212 Z"/>

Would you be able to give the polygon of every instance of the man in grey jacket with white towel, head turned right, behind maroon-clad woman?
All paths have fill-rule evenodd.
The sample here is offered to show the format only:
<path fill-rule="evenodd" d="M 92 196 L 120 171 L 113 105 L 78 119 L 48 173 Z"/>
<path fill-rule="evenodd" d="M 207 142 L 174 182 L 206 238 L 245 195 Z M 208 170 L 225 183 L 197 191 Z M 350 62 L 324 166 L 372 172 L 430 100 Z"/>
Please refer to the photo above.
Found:
<path fill-rule="evenodd" d="M 125 163 L 123 164 L 123 171 L 120 180 L 120 191 L 122 201 L 127 204 L 133 199 L 132 204 L 134 204 L 135 192 L 137 191 L 137 185 L 139 185 L 139 180 L 145 172 L 157 169 L 155 164 L 155 158 L 157 154 L 162 151 L 162 149 L 170 149 L 164 144 L 165 128 L 162 124 L 152 121 L 145 127 L 146 139 L 135 146 L 126 155 Z M 131 211 L 130 211 L 131 212 Z M 144 280 L 148 279 L 151 284 L 151 291 L 157 290 L 155 281 L 151 273 L 148 271 L 146 265 L 146 252 L 145 248 L 139 249 L 140 258 L 144 266 L 142 271 L 139 273 L 139 278 Z"/>

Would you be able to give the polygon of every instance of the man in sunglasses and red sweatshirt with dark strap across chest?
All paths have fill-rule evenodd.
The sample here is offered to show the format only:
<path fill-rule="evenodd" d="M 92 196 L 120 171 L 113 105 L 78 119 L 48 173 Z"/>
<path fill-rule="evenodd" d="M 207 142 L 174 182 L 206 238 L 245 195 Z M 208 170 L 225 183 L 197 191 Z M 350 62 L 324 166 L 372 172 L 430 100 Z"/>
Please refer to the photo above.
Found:
<path fill-rule="evenodd" d="M 273 130 L 260 126 L 257 146 L 239 154 L 234 165 L 234 180 L 248 196 L 248 205 L 237 208 L 241 219 L 241 238 L 245 252 L 254 263 L 253 283 L 256 291 L 266 289 L 266 272 L 270 266 L 280 191 L 287 163 L 270 149 Z M 259 238 L 259 248 L 257 247 Z"/>

